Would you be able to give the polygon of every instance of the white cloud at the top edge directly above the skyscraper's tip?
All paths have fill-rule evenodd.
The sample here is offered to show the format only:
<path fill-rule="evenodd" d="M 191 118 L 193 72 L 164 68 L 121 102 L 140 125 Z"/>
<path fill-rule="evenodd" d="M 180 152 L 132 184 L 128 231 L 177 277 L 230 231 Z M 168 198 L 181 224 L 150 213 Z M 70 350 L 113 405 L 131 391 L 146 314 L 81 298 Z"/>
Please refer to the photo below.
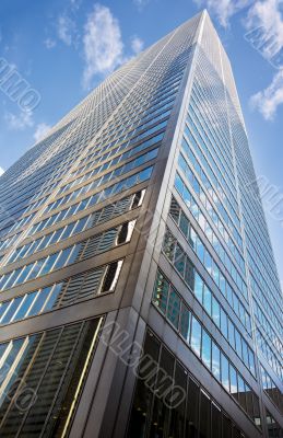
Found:
<path fill-rule="evenodd" d="M 229 25 L 233 15 L 245 9 L 252 0 L 194 0 L 199 8 L 208 8 L 209 12 L 215 15 L 223 27 Z"/>

